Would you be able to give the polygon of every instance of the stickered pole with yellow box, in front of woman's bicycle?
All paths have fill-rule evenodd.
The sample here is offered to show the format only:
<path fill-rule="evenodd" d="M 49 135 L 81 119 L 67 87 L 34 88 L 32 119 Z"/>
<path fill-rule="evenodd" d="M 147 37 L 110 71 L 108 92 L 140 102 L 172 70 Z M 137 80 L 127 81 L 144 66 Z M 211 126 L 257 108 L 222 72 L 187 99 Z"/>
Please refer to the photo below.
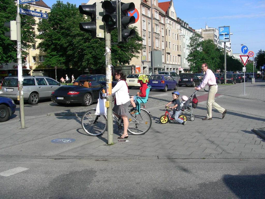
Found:
<path fill-rule="evenodd" d="M 112 118 L 112 74 L 111 74 L 111 32 L 105 31 L 105 55 L 106 55 L 106 89 L 107 89 L 107 121 L 108 144 L 113 144 L 113 118 Z"/>

